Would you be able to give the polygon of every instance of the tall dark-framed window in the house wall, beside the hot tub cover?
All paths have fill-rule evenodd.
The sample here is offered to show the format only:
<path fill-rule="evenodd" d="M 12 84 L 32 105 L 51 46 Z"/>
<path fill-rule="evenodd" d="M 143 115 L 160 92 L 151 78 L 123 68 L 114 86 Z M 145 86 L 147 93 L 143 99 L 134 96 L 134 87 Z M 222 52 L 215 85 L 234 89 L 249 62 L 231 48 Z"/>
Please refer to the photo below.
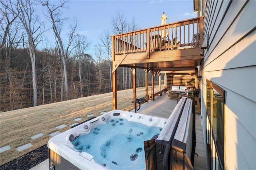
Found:
<path fill-rule="evenodd" d="M 208 158 L 213 170 L 224 169 L 225 91 L 207 80 L 207 134 Z"/>

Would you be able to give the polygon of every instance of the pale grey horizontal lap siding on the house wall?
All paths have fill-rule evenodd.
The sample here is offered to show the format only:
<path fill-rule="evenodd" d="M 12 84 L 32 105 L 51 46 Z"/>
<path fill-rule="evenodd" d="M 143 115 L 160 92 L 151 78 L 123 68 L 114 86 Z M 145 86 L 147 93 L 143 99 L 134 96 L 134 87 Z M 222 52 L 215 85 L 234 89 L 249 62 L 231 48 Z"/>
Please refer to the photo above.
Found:
<path fill-rule="evenodd" d="M 204 138 L 208 79 L 226 91 L 226 169 L 256 169 L 255 11 L 255 0 L 202 2 L 204 38 L 209 37 L 199 70 Z"/>

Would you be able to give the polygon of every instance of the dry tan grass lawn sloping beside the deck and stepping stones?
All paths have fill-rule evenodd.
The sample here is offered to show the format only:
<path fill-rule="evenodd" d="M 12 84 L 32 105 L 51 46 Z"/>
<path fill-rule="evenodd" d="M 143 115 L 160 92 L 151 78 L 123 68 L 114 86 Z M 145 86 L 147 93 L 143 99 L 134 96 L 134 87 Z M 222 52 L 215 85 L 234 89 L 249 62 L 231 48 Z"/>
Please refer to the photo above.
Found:
<path fill-rule="evenodd" d="M 151 89 L 149 89 L 150 92 Z M 137 88 L 137 98 L 145 96 L 145 88 Z M 120 110 L 130 111 L 133 109 L 132 89 L 118 91 L 118 106 Z M 47 144 L 48 134 L 57 131 L 55 128 L 65 124 L 67 127 L 59 129 L 64 132 L 70 129 L 69 125 L 76 123 L 74 119 L 89 119 L 87 115 L 99 116 L 101 112 L 112 110 L 112 93 L 94 95 L 15 111 L 0 113 L 0 147 L 9 145 L 10 150 L 0 153 L 0 165 L 18 158 L 36 148 Z M 30 137 L 43 133 L 44 136 L 32 140 Z M 18 152 L 17 147 L 27 143 L 33 146 Z"/>

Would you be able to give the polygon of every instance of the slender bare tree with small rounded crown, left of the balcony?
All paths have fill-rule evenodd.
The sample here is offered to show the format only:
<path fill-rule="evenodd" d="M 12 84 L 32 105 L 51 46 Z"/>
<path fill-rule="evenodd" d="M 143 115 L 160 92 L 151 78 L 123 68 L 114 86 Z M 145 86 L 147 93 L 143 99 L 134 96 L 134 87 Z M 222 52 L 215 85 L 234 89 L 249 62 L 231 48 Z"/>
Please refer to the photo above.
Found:
<path fill-rule="evenodd" d="M 79 67 L 80 97 L 83 97 L 82 59 L 84 57 L 84 53 L 87 51 L 90 44 L 91 43 L 87 40 L 86 36 L 82 36 L 78 34 L 74 38 L 74 42 L 73 42 L 74 55 L 76 57 L 76 60 L 78 61 L 78 67 Z"/>

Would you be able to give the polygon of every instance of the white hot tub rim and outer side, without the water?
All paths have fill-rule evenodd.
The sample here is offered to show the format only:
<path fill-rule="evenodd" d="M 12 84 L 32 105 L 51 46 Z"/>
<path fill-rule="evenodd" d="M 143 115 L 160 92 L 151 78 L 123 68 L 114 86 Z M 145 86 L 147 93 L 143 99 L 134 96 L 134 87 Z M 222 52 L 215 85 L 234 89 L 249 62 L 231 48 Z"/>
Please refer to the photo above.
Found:
<path fill-rule="evenodd" d="M 49 167 L 54 166 L 55 170 L 58 169 L 110 169 L 108 166 L 100 164 L 94 160 L 94 156 L 81 152 L 74 148 L 70 140 L 76 138 L 81 134 L 88 134 L 94 127 L 105 124 L 106 121 L 114 118 L 124 118 L 128 121 L 138 122 L 145 124 L 149 127 L 163 128 L 168 119 L 161 117 L 154 117 L 150 115 L 143 115 L 128 111 L 113 110 L 104 115 L 96 117 L 90 121 L 82 123 L 70 130 L 62 132 L 48 141 L 49 148 Z M 85 129 L 84 127 L 86 127 Z"/>

